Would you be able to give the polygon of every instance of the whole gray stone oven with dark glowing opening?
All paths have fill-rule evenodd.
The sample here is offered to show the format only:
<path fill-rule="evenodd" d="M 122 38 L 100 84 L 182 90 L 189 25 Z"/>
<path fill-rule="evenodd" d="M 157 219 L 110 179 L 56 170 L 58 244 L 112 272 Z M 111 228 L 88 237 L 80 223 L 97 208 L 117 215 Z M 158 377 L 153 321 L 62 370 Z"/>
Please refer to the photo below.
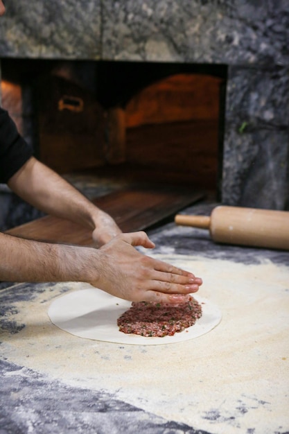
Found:
<path fill-rule="evenodd" d="M 288 40 L 282 1 L 11 0 L 2 103 L 61 173 L 289 209 Z"/>

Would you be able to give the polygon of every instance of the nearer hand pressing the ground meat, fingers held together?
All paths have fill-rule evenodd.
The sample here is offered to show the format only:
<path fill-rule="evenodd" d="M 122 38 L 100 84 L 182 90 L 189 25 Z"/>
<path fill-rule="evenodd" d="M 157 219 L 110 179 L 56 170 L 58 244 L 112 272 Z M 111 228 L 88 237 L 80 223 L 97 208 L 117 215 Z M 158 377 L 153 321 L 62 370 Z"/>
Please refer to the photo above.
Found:
<path fill-rule="evenodd" d="M 134 302 L 185 302 L 199 289 L 202 279 L 141 254 L 136 245 L 155 247 L 145 232 L 121 234 L 103 245 L 98 251 L 99 279 L 89 283 Z"/>

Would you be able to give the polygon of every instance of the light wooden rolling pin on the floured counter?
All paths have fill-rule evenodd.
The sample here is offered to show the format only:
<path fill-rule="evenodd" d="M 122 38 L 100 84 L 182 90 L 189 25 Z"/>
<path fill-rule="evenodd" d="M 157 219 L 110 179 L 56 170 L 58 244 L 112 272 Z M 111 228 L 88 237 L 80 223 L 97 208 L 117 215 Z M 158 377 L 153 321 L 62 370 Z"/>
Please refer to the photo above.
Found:
<path fill-rule="evenodd" d="M 210 217 L 177 214 L 175 223 L 209 229 L 217 243 L 289 250 L 289 211 L 220 206 Z"/>

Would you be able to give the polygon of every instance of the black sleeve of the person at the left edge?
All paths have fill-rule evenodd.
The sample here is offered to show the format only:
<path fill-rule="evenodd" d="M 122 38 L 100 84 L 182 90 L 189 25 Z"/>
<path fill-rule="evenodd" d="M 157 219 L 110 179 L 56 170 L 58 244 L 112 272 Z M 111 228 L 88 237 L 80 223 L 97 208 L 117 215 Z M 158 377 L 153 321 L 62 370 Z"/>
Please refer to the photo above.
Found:
<path fill-rule="evenodd" d="M 7 183 L 32 155 L 33 149 L 20 136 L 8 112 L 0 107 L 0 182 Z"/>

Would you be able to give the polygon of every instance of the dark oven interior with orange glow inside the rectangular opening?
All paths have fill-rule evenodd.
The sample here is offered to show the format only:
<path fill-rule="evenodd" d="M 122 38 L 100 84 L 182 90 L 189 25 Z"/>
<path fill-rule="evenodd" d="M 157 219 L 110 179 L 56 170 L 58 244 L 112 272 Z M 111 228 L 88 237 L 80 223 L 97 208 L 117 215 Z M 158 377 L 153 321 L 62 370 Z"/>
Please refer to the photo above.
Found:
<path fill-rule="evenodd" d="M 227 67 L 1 60 L 2 105 L 58 171 L 220 194 Z"/>

